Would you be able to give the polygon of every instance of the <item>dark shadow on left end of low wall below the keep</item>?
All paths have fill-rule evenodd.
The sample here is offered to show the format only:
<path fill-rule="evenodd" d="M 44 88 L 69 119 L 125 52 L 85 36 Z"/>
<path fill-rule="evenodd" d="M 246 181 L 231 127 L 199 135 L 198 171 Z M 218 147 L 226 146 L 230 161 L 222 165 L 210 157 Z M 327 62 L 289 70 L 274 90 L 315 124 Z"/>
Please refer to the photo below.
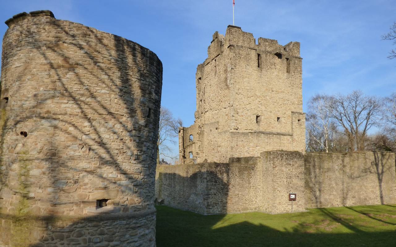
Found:
<path fill-rule="evenodd" d="M 223 176 L 224 179 L 219 177 Z M 229 170 L 195 172 L 188 177 L 177 173 L 158 174 L 161 204 L 204 215 L 227 212 Z"/>

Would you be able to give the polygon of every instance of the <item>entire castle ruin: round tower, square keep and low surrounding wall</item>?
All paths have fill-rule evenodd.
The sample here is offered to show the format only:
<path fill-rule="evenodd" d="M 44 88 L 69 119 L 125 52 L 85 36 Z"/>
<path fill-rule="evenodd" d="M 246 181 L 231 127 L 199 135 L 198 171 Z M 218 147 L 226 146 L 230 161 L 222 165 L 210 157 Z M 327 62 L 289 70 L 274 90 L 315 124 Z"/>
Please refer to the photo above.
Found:
<path fill-rule="evenodd" d="M 154 247 L 154 198 L 202 214 L 396 203 L 393 153 L 305 154 L 298 42 L 216 32 L 183 164 L 156 168 L 152 51 L 51 11 L 6 24 L 0 247 Z"/>

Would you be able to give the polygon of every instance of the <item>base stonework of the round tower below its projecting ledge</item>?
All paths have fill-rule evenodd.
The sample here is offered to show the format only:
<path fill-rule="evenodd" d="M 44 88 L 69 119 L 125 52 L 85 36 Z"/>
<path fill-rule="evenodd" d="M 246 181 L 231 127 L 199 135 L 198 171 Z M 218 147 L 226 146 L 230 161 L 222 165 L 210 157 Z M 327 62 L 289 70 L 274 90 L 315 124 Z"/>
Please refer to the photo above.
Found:
<path fill-rule="evenodd" d="M 155 211 L 99 217 L 0 217 L 0 247 L 155 246 Z"/>

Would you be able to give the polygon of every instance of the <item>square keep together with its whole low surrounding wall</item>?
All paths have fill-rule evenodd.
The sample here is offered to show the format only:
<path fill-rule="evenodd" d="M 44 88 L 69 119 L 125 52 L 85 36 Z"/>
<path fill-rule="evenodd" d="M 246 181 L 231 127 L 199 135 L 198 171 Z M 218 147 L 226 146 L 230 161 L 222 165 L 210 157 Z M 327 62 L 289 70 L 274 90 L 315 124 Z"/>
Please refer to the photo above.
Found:
<path fill-rule="evenodd" d="M 298 42 L 215 32 L 181 164 L 157 166 L 157 200 L 204 215 L 396 203 L 394 153 L 305 153 L 301 59 Z"/>

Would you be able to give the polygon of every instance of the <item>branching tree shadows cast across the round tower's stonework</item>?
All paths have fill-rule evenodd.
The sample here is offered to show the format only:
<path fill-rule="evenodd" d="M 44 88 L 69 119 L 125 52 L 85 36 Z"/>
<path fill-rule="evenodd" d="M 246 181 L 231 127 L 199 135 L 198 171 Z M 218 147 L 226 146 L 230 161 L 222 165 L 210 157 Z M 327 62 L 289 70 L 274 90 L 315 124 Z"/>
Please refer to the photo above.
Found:
<path fill-rule="evenodd" d="M 83 203 L 83 202 L 72 202 L 70 198 L 68 202 L 64 202 L 62 200 L 65 199 L 65 195 L 61 193 L 51 193 L 51 196 L 47 198 L 49 201 L 49 207 L 54 209 L 53 214 L 49 214 L 45 217 L 39 218 L 29 218 L 29 210 L 23 211 L 17 209 L 19 214 L 18 217 L 8 217 L 7 215 L 1 215 L 3 218 L 9 218 L 11 224 L 9 227 L 14 227 L 18 232 L 11 232 L 11 235 L 8 236 L 11 241 L 18 239 L 13 243 L 15 246 L 28 246 L 29 242 L 32 243 L 31 239 L 41 239 L 40 243 L 33 243 L 29 246 L 38 247 L 38 246 L 58 246 L 58 244 L 72 244 L 72 245 L 86 245 L 90 243 L 90 246 L 95 246 L 95 244 L 101 246 L 105 245 L 105 242 L 109 242 L 112 244 L 118 244 L 118 242 L 124 246 L 131 244 L 136 245 L 147 245 L 148 242 L 142 243 L 143 239 L 149 234 L 149 230 L 153 229 L 155 226 L 155 209 L 154 209 L 154 174 L 155 174 L 155 156 L 149 157 L 149 161 L 154 161 L 152 164 L 144 167 L 139 172 L 139 176 L 135 174 L 131 174 L 130 171 L 125 169 L 125 164 L 128 163 L 124 160 L 124 164 L 120 163 L 120 158 L 118 155 L 114 153 L 114 149 L 110 147 L 108 144 L 108 138 L 105 137 L 106 133 L 116 134 L 114 133 L 114 123 L 118 124 L 122 131 L 128 133 L 127 136 L 117 135 L 119 138 L 121 145 L 124 146 L 122 150 L 123 153 L 131 153 L 131 161 L 133 160 L 139 164 L 147 163 L 147 161 L 141 162 L 140 160 L 144 160 L 145 153 L 137 154 L 135 151 L 139 149 L 141 152 L 145 151 L 147 148 L 151 148 L 152 145 L 145 145 L 145 143 L 139 142 L 140 140 L 147 140 L 147 136 L 153 135 L 156 136 L 155 131 L 158 130 L 158 115 L 159 115 L 159 104 L 158 106 L 152 106 L 153 112 L 151 112 L 152 118 L 151 121 L 148 121 L 145 127 L 139 126 L 139 124 L 133 122 L 135 119 L 143 119 L 146 116 L 145 109 L 142 108 L 142 100 L 147 100 L 147 98 L 151 98 L 153 92 L 148 91 L 147 88 L 142 88 L 140 83 L 133 83 L 130 81 L 131 74 L 130 64 L 128 65 L 127 57 L 132 57 L 134 59 L 135 64 L 141 64 L 141 66 L 154 66 L 153 64 L 149 64 L 150 62 L 154 62 L 153 60 L 149 60 L 147 54 L 145 54 L 145 49 L 141 51 L 136 50 L 136 46 L 132 43 L 124 40 L 121 37 L 113 36 L 115 47 L 116 47 L 116 56 L 108 53 L 108 56 L 111 58 L 113 63 L 116 63 L 118 66 L 118 76 L 114 76 L 113 72 L 109 72 L 103 64 L 103 61 L 99 61 L 100 58 L 97 54 L 91 54 L 90 51 L 86 47 L 86 43 L 84 44 L 84 40 L 81 40 L 79 36 L 75 34 L 71 34 L 68 32 L 63 25 L 60 25 L 56 21 L 48 22 L 46 25 L 51 26 L 51 28 L 55 28 L 57 32 L 66 36 L 65 39 L 56 39 L 54 42 L 43 42 L 38 39 L 38 35 L 34 30 L 23 30 L 23 35 L 26 37 L 32 37 L 32 41 L 29 42 L 29 48 L 36 51 L 40 54 L 40 58 L 42 61 L 47 61 L 49 69 L 51 72 L 54 72 L 55 78 L 53 78 L 56 83 L 53 83 L 54 90 L 60 91 L 59 94 L 47 94 L 43 96 L 42 92 L 35 92 L 32 98 L 36 98 L 36 104 L 33 106 L 29 106 L 29 109 L 26 111 L 31 111 L 32 113 L 24 117 L 23 119 L 14 118 L 12 126 L 9 123 L 9 116 L 5 115 L 5 110 L 1 109 L 2 114 L 2 138 L 1 138 L 1 151 L 0 155 L 2 156 L 4 149 L 4 136 L 7 134 L 7 131 L 10 129 L 15 129 L 18 124 L 24 123 L 32 119 L 33 121 L 55 121 L 56 126 L 51 126 L 54 132 L 63 133 L 62 136 L 73 137 L 75 140 L 78 140 L 78 136 L 84 136 L 82 140 L 78 141 L 78 152 L 81 152 L 85 158 L 91 160 L 97 160 L 100 162 L 102 168 L 106 166 L 109 169 L 114 170 L 114 173 L 119 177 L 118 181 L 126 181 L 127 186 L 117 187 L 114 179 L 110 179 L 109 177 L 104 177 L 102 173 L 97 172 L 95 169 L 81 168 L 81 166 L 71 166 L 68 161 L 75 160 L 78 162 L 80 158 L 77 156 L 62 156 L 58 155 L 58 151 L 62 149 L 61 141 L 53 140 L 53 142 L 49 145 L 49 147 L 44 147 L 41 150 L 38 150 L 37 155 L 32 155 L 31 158 L 19 158 L 18 160 L 14 160 L 13 162 L 19 163 L 19 165 L 27 166 L 32 162 L 45 164 L 46 168 L 44 168 L 43 176 L 46 176 L 49 179 L 49 183 L 56 184 L 59 180 L 70 180 L 70 173 L 80 173 L 82 177 L 93 177 L 100 179 L 104 183 L 108 182 L 111 187 L 116 187 L 120 189 L 122 194 L 133 195 L 133 198 L 139 198 L 140 200 L 136 200 L 133 204 L 131 202 L 114 202 L 114 207 L 112 210 L 104 211 L 103 213 L 99 213 L 99 215 L 91 216 L 84 215 L 84 217 L 80 218 L 78 221 L 70 220 L 63 218 L 62 210 L 55 210 L 58 206 L 62 206 L 64 204 L 74 204 Z M 74 25 L 74 23 L 73 23 Z M 86 32 L 90 32 L 91 38 L 97 42 L 98 44 L 106 46 L 107 44 L 103 43 L 103 40 L 97 37 L 97 32 L 94 32 L 89 27 L 80 27 L 83 28 Z M 76 32 L 77 33 L 77 32 Z M 111 37 L 109 35 L 109 37 Z M 58 41 L 56 41 L 58 40 Z M 92 68 L 87 68 L 80 61 L 76 60 L 75 57 L 70 55 L 67 51 L 65 52 L 62 49 L 59 49 L 60 45 L 63 45 L 63 40 L 67 42 L 67 45 L 73 46 L 77 48 L 82 54 L 84 54 L 84 59 L 90 60 L 91 64 L 95 66 L 95 70 Z M 95 49 L 95 47 L 90 47 L 90 49 Z M 143 52 L 142 56 L 138 58 L 138 55 Z M 138 54 L 139 53 L 139 54 Z M 62 59 L 54 60 L 53 57 L 61 57 Z M 37 58 L 35 58 L 37 59 Z M 74 61 L 74 62 L 71 62 Z M 68 66 L 69 69 L 65 70 L 65 66 L 59 68 L 59 64 L 66 63 L 65 66 Z M 67 67 L 66 67 L 67 68 Z M 78 68 L 78 72 L 74 73 L 74 69 Z M 27 70 L 29 71 L 29 70 Z M 80 85 L 82 90 L 85 90 L 84 96 L 82 94 L 78 94 L 73 91 L 73 88 L 67 84 L 64 80 L 66 79 L 66 74 L 72 72 L 73 75 L 73 85 Z M 28 72 L 27 72 L 28 73 Z M 142 74 L 142 70 L 137 68 L 134 71 L 133 77 L 136 78 L 145 78 L 147 74 Z M 162 68 L 161 68 L 162 75 Z M 108 87 L 118 89 L 118 99 L 124 104 L 127 105 L 125 111 L 126 119 L 130 119 L 132 124 L 129 126 L 125 121 L 122 121 L 118 115 L 112 112 L 109 106 L 103 104 L 103 100 L 99 96 L 97 96 L 94 92 L 96 89 L 89 87 L 89 83 L 84 81 L 79 74 L 89 74 L 89 77 L 92 81 L 103 81 L 103 78 L 106 78 L 106 83 L 110 83 Z M 18 78 L 22 78 L 27 76 L 27 74 L 19 74 Z M 160 76 L 160 75 L 159 75 Z M 18 80 L 16 78 L 16 80 Z M 160 93 L 160 92 L 159 92 Z M 17 97 L 17 96 L 15 96 Z M 77 107 L 78 110 L 78 118 L 79 121 L 83 121 L 86 123 L 86 126 L 89 126 L 89 131 L 87 129 L 82 129 L 76 126 L 74 123 L 73 116 L 70 116 L 70 120 L 65 120 L 62 117 L 54 116 L 51 117 L 49 114 L 40 114 L 39 111 L 35 111 L 34 109 L 40 108 L 43 104 L 47 104 L 51 102 L 54 98 L 65 98 L 67 101 L 73 102 L 73 106 Z M 156 97 L 160 97 L 157 95 Z M 91 102 L 87 102 L 86 98 L 90 98 Z M 145 103 L 145 102 L 143 102 Z M 92 112 L 96 115 L 96 118 L 93 117 Z M 98 123 L 98 120 L 101 123 Z M 112 126 L 107 126 L 104 124 L 105 122 L 111 122 Z M 137 121 L 136 121 L 137 122 Z M 6 128 L 8 126 L 8 128 Z M 61 128 L 60 126 L 70 126 L 72 131 L 67 128 Z M 103 128 L 106 128 L 103 130 Z M 147 132 L 147 129 L 151 129 L 153 132 Z M 29 132 L 34 132 L 34 129 L 30 129 Z M 48 133 L 49 135 L 51 133 Z M 153 142 L 154 143 L 154 142 Z M 93 148 L 95 147 L 95 148 Z M 129 148 L 127 148 L 129 147 Z M 139 148 L 138 148 L 139 147 Z M 154 154 L 155 151 L 152 151 Z M 143 155 L 143 158 L 142 158 Z M 151 156 L 151 153 L 148 155 Z M 146 158 L 147 160 L 147 158 Z M 2 164 L 4 164 L 4 160 L 1 160 Z M 145 166 L 145 164 L 143 164 Z M 5 170 L 0 174 L 0 186 L 9 186 L 7 182 L 4 180 L 8 177 L 9 167 L 12 164 L 5 165 Z M 69 172 L 65 172 L 69 171 Z M 84 180 L 81 179 L 80 180 Z M 147 179 L 147 181 L 143 181 L 142 178 Z M 27 200 L 29 203 L 33 198 L 29 197 L 30 191 L 29 187 L 31 185 L 31 181 L 33 178 L 26 176 L 23 177 L 21 181 L 21 186 L 23 187 L 23 191 L 14 191 L 17 194 L 20 193 L 21 197 L 24 200 Z M 36 179 L 40 179 L 36 177 Z M 77 179 L 76 185 L 79 186 L 80 183 L 84 181 L 80 181 Z M 36 181 L 37 182 L 37 181 Z M 145 183 L 146 182 L 146 183 Z M 151 184 L 151 187 L 147 184 Z M 109 187 L 108 185 L 105 187 Z M 0 190 L 2 187 L 0 187 Z M 103 189 L 103 188 L 102 188 Z M 143 192 L 144 190 L 144 192 Z M 89 206 L 92 206 L 92 203 L 89 202 Z M 81 205 L 81 207 L 84 207 Z M 135 213 L 136 212 L 136 213 Z M 114 213 L 114 216 L 111 216 Z M 124 213 L 123 217 L 117 217 L 115 213 Z M 82 216 L 82 215 L 80 215 Z M 32 220 L 32 221 L 30 221 Z M 147 224 L 147 222 L 149 222 Z M 31 225 L 29 225 L 32 223 Z M 38 227 L 44 232 L 44 234 L 40 233 L 40 236 L 33 236 L 32 230 L 34 224 L 34 228 Z M 98 230 L 101 228 L 100 230 Z M 114 231 L 119 230 L 119 232 Z M 11 230 L 12 231 L 12 230 Z M 152 232 L 153 234 L 154 232 Z M 106 235 L 104 239 L 102 235 Z M 27 236 L 26 238 L 23 236 Z M 125 236 L 129 236 L 127 239 Z M 38 238 L 39 237 L 39 238 Z M 154 236 L 151 238 L 153 241 Z M 140 242 L 139 242 L 140 241 Z M 151 245 L 151 243 L 150 243 Z"/>

